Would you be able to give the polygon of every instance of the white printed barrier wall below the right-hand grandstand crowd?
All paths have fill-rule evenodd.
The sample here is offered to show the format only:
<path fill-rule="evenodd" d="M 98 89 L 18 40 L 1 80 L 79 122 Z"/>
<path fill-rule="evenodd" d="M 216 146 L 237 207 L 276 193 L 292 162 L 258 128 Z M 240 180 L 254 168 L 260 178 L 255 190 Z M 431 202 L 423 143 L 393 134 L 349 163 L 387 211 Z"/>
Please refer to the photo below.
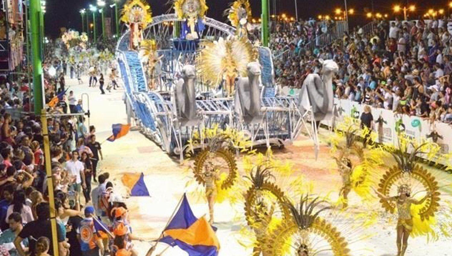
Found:
<path fill-rule="evenodd" d="M 347 99 L 337 99 L 334 98 L 334 104 L 338 108 L 339 112 L 339 120 L 344 120 L 345 116 L 353 116 L 354 118 L 360 118 L 361 113 L 363 112 L 364 105 L 359 104 L 358 102 L 353 102 Z M 397 132 L 395 130 L 396 124 L 400 123 L 400 129 L 405 129 L 405 133 L 419 142 L 421 139 L 427 139 L 427 135 L 429 135 L 433 129 L 435 129 L 439 135 L 443 136 L 443 138 L 439 138 L 437 143 L 441 146 L 442 154 L 449 154 L 452 152 L 452 127 L 442 123 L 435 122 L 434 125 L 430 125 L 427 120 L 421 119 L 417 116 L 407 116 L 401 114 L 395 114 L 391 110 L 386 110 L 382 108 L 374 108 L 371 107 L 372 115 L 374 121 L 377 121 L 380 117 L 385 122 L 376 122 L 374 131 L 378 134 L 378 142 L 380 143 L 390 143 L 397 144 Z M 420 125 L 417 127 L 413 127 L 412 122 L 414 120 L 418 120 Z M 417 121 L 415 121 L 417 122 Z M 323 122 L 325 125 L 330 125 L 331 122 Z M 433 127 L 434 126 L 434 127 Z M 428 140 L 432 141 L 431 138 Z M 449 164 L 452 164 L 451 159 L 448 160 Z M 444 160 L 439 160 L 439 163 L 446 164 Z"/>

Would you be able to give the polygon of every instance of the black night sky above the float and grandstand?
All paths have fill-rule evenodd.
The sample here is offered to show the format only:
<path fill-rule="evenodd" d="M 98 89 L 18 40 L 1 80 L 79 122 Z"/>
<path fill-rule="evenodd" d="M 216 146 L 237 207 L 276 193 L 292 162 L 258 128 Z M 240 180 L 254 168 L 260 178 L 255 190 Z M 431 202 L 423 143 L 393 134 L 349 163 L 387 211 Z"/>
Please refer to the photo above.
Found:
<path fill-rule="evenodd" d="M 113 0 L 106 0 L 107 5 L 113 3 Z M 121 0 L 124 3 L 126 0 Z M 153 15 L 160 15 L 173 12 L 171 5 L 167 4 L 168 0 L 147 0 L 151 4 Z M 273 14 L 273 1 L 271 2 L 271 13 Z M 207 0 L 209 10 L 207 16 L 226 20 L 223 16 L 223 11 L 228 7 L 233 0 Z M 365 13 L 371 10 L 371 0 L 348 0 L 348 8 L 354 8 L 357 12 L 355 15 L 349 17 L 351 25 L 357 23 L 366 23 Z M 447 8 L 448 0 L 373 0 L 375 12 L 391 13 L 391 6 L 395 3 L 414 4 L 418 7 L 417 14 L 424 14 L 429 8 Z M 47 0 L 47 13 L 45 15 L 46 35 L 50 37 L 57 37 L 60 34 L 59 28 L 74 28 L 81 31 L 81 17 L 79 10 L 87 8 L 89 4 L 95 4 L 96 0 Z M 250 0 L 253 8 L 253 16 L 259 17 L 261 0 Z M 300 18 L 317 17 L 319 14 L 333 15 L 333 11 L 337 7 L 344 6 L 343 0 L 297 0 L 298 14 Z M 108 6 L 107 6 L 108 7 Z M 109 7 L 108 7 L 109 9 Z M 279 14 L 286 13 L 295 16 L 294 0 L 276 0 L 276 9 Z M 89 13 L 90 14 L 90 13 Z M 106 10 L 105 14 L 110 15 L 110 11 Z M 90 16 L 90 22 L 91 22 Z M 402 17 L 402 15 L 400 15 Z M 100 22 L 100 19 L 99 19 Z M 100 28 L 100 24 L 99 27 Z M 113 28 L 114 29 L 114 28 Z M 114 31 L 113 31 L 114 33 Z"/>

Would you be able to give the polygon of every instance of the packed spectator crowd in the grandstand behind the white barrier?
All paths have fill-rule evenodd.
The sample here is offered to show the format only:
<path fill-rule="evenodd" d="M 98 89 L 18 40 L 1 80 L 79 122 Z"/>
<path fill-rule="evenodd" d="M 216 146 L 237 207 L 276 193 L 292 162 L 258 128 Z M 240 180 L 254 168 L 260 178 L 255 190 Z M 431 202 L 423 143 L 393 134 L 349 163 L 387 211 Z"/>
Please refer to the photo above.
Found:
<path fill-rule="evenodd" d="M 320 59 L 334 59 L 336 98 L 452 122 L 452 17 L 374 21 L 370 32 L 358 27 L 312 49 L 306 43 L 315 42 L 313 32 L 334 29 L 316 24 L 275 25 L 270 44 L 282 87 L 300 88 L 307 74 L 320 72 Z"/>

